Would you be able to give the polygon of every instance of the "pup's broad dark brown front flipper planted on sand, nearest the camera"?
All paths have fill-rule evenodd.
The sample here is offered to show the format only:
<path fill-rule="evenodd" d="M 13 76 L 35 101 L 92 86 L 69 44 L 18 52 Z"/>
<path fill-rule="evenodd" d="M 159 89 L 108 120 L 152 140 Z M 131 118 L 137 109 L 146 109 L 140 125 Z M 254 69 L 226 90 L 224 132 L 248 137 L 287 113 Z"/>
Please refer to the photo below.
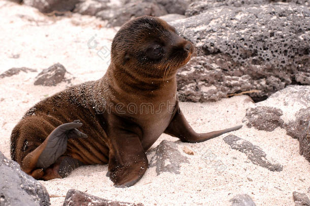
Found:
<path fill-rule="evenodd" d="M 148 167 L 148 160 L 141 141 L 133 130 L 135 126 L 124 127 L 126 123 L 117 122 L 109 129 L 111 141 L 109 154 L 109 171 L 107 175 L 115 187 L 130 187 L 137 183 Z"/>

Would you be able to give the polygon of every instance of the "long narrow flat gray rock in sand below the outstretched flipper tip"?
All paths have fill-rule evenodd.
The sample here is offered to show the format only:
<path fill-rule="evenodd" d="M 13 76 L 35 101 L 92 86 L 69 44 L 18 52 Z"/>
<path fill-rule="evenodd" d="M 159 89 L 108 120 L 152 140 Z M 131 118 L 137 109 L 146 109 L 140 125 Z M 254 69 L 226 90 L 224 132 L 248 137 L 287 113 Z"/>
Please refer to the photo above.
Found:
<path fill-rule="evenodd" d="M 278 163 L 271 163 L 266 159 L 266 153 L 260 149 L 259 146 L 252 144 L 251 142 L 241 139 L 235 135 L 228 135 L 223 140 L 230 145 L 234 150 L 238 150 L 247 155 L 247 158 L 252 161 L 253 164 L 265 167 L 270 171 L 282 171 L 283 166 Z"/>

